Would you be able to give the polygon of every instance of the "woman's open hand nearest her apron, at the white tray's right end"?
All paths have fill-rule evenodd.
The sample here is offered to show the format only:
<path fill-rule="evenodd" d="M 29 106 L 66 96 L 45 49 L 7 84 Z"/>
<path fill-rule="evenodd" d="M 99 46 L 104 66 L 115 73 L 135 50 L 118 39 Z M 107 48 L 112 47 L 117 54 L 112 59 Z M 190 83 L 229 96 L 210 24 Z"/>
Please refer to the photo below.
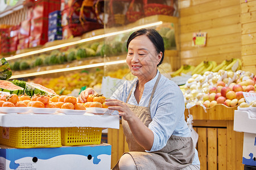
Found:
<path fill-rule="evenodd" d="M 123 101 L 117 99 L 106 99 L 106 105 L 110 110 L 119 112 L 119 116 L 122 116 L 123 120 L 129 121 L 135 116 L 133 111 Z"/>

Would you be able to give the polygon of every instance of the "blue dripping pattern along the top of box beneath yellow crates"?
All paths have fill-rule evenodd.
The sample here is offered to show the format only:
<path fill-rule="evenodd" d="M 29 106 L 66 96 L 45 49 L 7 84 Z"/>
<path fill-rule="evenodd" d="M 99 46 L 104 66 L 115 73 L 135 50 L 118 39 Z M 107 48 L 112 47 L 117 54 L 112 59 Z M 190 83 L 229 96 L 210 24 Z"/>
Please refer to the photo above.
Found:
<path fill-rule="evenodd" d="M 8 150 L 8 154 L 6 154 Z M 9 148 L 0 149 L 0 156 L 10 160 L 10 169 L 16 169 L 19 164 L 15 160 L 25 157 L 36 157 L 38 159 L 51 159 L 60 155 L 92 155 L 93 164 L 100 163 L 97 157 L 102 154 L 111 155 L 111 146 L 84 146 L 84 147 L 56 147 L 56 148 Z M 11 155 L 11 156 L 10 156 Z M 10 156 L 10 158 L 6 158 Z"/>

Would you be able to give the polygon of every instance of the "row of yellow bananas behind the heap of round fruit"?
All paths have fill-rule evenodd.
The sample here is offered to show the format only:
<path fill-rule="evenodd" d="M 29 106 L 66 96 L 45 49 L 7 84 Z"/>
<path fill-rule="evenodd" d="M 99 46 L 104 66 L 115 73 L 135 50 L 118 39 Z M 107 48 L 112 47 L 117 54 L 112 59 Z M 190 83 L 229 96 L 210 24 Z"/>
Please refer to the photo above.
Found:
<path fill-rule="evenodd" d="M 171 73 L 171 76 L 179 76 L 181 74 L 201 74 L 206 71 L 217 72 L 218 70 L 237 71 L 241 70 L 242 61 L 239 58 L 225 59 L 219 65 L 215 61 L 202 61 L 197 66 L 182 65 L 180 69 Z"/>

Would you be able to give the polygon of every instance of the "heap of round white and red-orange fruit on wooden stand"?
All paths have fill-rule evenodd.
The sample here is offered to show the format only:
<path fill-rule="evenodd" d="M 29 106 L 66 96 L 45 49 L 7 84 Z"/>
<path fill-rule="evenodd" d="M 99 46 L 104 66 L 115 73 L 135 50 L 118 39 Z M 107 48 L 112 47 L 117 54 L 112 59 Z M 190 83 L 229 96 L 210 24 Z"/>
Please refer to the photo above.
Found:
<path fill-rule="evenodd" d="M 216 104 L 236 107 L 245 102 L 242 92 L 255 93 L 255 80 L 256 76 L 249 71 L 205 71 L 203 75 L 193 74 L 180 88 L 187 108 L 209 108 Z"/>

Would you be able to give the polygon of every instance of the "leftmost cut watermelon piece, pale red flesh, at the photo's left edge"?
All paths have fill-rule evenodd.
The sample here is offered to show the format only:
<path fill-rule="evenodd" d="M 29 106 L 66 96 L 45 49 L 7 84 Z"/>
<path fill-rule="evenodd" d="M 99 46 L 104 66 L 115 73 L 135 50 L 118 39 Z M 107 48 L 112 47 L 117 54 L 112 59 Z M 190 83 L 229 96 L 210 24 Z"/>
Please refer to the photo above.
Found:
<path fill-rule="evenodd" d="M 9 92 L 10 94 L 21 95 L 23 94 L 23 88 L 16 86 L 15 84 L 7 81 L 7 80 L 0 80 L 0 91 Z"/>

